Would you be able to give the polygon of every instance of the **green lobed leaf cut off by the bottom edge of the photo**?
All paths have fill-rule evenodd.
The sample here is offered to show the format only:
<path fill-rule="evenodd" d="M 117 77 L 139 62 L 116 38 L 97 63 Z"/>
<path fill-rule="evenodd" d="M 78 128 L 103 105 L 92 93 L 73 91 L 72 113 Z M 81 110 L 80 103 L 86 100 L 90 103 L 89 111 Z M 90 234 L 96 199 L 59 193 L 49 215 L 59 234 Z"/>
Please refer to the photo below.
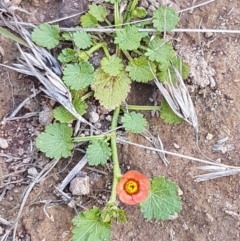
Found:
<path fill-rule="evenodd" d="M 110 240 L 110 222 L 103 222 L 101 210 L 95 206 L 80 212 L 73 218 L 72 241 L 108 241 Z"/>

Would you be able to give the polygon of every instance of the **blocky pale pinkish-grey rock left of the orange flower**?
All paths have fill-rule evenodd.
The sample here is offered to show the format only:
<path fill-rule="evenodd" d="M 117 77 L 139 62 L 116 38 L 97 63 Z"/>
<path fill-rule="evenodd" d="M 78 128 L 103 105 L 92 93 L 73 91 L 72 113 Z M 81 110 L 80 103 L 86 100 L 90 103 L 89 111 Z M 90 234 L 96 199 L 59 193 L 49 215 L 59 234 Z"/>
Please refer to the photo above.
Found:
<path fill-rule="evenodd" d="M 73 195 L 88 195 L 90 193 L 89 177 L 75 177 L 69 187 Z"/>

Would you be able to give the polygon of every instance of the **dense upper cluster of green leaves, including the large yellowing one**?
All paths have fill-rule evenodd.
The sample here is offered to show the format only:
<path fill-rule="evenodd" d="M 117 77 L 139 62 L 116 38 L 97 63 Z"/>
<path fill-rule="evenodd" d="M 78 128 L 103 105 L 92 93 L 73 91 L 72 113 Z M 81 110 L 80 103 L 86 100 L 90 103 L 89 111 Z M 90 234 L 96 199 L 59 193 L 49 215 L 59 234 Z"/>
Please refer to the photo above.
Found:
<path fill-rule="evenodd" d="M 118 4 L 120 0 L 110 0 Z M 145 17 L 142 8 L 130 8 L 131 18 Z M 85 27 L 103 27 L 110 24 L 109 10 L 98 4 L 89 5 L 89 10 L 80 18 Z M 72 48 L 62 50 L 58 59 L 66 64 L 63 68 L 63 81 L 70 90 L 83 90 L 86 87 L 94 90 L 94 97 L 107 109 L 115 109 L 125 101 L 132 81 L 147 83 L 156 76 L 162 82 L 175 82 L 173 66 L 182 73 L 185 79 L 189 73 L 187 65 L 176 56 L 172 45 L 163 38 L 164 31 L 170 31 L 178 24 L 178 15 L 168 7 L 160 7 L 153 12 L 152 22 L 143 27 L 153 25 L 157 32 L 154 36 L 139 32 L 137 24 L 116 27 L 117 31 L 109 33 L 116 54 L 109 53 L 108 41 L 99 35 L 85 31 L 76 31 L 67 35 L 60 33 L 55 25 L 42 24 L 32 33 L 32 39 L 38 45 L 49 49 L 58 45 L 60 40 L 71 40 Z M 89 62 L 92 54 L 102 49 L 105 56 L 100 66 L 94 71 Z M 137 57 L 132 57 L 132 54 Z M 180 64 L 181 63 L 181 64 Z"/>

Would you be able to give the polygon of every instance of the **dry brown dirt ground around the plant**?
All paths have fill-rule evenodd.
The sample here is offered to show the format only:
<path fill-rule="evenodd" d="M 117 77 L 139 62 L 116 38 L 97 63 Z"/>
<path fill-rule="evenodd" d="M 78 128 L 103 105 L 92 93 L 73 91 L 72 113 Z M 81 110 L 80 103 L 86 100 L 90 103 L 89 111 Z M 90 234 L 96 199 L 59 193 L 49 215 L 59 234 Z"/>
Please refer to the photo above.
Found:
<path fill-rule="evenodd" d="M 60 11 L 59 2 L 32 1 L 30 4 L 29 1 L 22 1 L 20 6 L 29 11 L 38 8 L 35 14 L 25 16 L 27 21 L 36 23 L 58 17 L 59 12 L 63 11 Z M 69 2 L 81 5 L 81 1 Z M 180 9 L 191 6 L 192 2 L 201 3 L 175 1 Z M 70 7 L 67 9 L 74 10 Z M 192 12 L 184 12 L 181 14 L 179 27 L 239 29 L 240 2 L 218 0 Z M 176 49 L 191 64 L 193 73 L 197 73 L 197 70 L 202 73 L 188 81 L 199 119 L 199 146 L 202 152 L 218 162 L 240 166 L 240 35 L 178 33 L 173 37 Z M 0 36 L 0 47 L 4 50 L 4 53 L 1 53 L 1 62 L 15 60 L 17 51 L 14 43 Z M 194 60 L 197 60 L 195 67 Z M 215 75 L 211 68 L 215 69 Z M 208 79 L 211 75 L 214 79 Z M 2 119 L 31 94 L 36 81 L 2 68 L 0 76 Z M 128 103 L 150 104 L 149 97 L 152 96 L 153 90 L 152 86 L 134 85 Z M 18 115 L 41 110 L 45 99 L 44 96 L 37 96 Z M 166 150 L 203 158 L 196 148 L 191 126 L 186 123 L 177 126 L 167 125 L 160 118 L 144 114 L 148 117 L 149 130 L 152 134 L 161 136 Z M 16 218 L 24 190 L 31 182 L 29 175 L 32 172 L 29 169 L 35 168 L 40 171 L 46 165 L 47 160 L 35 150 L 32 142 L 39 131 L 41 126 L 37 117 L 9 121 L 0 125 L 0 137 L 7 139 L 9 144 L 7 149 L 1 149 L 1 154 L 21 158 L 18 160 L 0 156 L 0 217 L 8 221 Z M 231 145 L 234 150 L 226 153 L 213 151 L 213 145 L 225 137 L 228 137 L 228 140 L 223 145 Z M 129 138 L 139 144 L 150 145 L 140 136 L 131 135 Z M 176 182 L 183 192 L 182 211 L 175 220 L 147 222 L 137 206 L 120 204 L 126 211 L 128 223 L 113 225 L 111 241 L 240 239 L 239 176 L 198 183 L 193 179 L 194 175 L 200 173 L 196 168 L 199 166 L 198 163 L 167 156 L 170 164 L 165 167 L 154 152 L 129 145 L 119 145 L 119 151 L 121 163 L 130 166 L 131 169 L 140 170 L 149 177 L 163 175 Z M 30 159 L 29 154 L 32 155 Z M 75 210 L 54 195 L 53 190 L 78 160 L 77 156 L 73 156 L 71 160 L 60 160 L 49 176 L 34 187 L 19 220 L 17 240 L 70 240 L 71 219 L 75 215 Z M 95 189 L 99 192 L 98 195 L 94 192 L 88 199 L 84 199 L 83 204 L 87 207 L 92 204 L 101 206 L 104 203 L 103 197 L 108 195 L 106 185 L 111 180 L 111 174 L 94 174 L 87 169 L 86 172 L 95 179 Z M 0 223 L 0 237 L 8 228 L 9 226 Z M 8 240 L 12 240 L 11 235 Z"/>

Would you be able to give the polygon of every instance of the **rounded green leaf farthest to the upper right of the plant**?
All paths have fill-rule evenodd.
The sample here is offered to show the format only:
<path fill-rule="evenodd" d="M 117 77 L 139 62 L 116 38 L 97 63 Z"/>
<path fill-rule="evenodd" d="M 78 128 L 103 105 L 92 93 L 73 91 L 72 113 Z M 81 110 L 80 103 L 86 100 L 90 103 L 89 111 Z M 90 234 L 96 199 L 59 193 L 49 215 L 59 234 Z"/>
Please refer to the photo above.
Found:
<path fill-rule="evenodd" d="M 170 31 L 179 21 L 178 14 L 169 7 L 160 7 L 153 12 L 153 26 L 158 31 Z"/>

